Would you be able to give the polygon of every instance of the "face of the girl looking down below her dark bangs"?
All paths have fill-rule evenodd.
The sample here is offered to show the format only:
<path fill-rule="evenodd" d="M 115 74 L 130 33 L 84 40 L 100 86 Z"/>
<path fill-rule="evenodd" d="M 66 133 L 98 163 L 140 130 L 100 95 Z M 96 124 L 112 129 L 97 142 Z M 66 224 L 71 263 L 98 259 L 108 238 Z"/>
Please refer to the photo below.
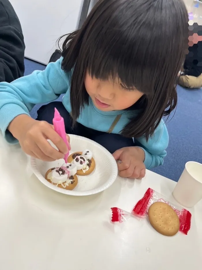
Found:
<path fill-rule="evenodd" d="M 102 111 L 124 110 L 137 102 L 143 93 L 136 89 L 124 89 L 117 80 L 101 81 L 87 73 L 85 88 L 95 106 Z"/>

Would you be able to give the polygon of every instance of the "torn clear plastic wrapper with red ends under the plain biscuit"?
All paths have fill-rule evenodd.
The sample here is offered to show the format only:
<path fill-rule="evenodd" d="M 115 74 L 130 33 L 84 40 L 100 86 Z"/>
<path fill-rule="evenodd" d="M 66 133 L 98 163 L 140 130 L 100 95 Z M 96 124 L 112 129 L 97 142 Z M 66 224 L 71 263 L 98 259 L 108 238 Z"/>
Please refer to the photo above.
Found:
<path fill-rule="evenodd" d="M 180 221 L 179 231 L 184 234 L 188 233 L 191 226 L 191 213 L 188 210 L 182 208 L 180 205 L 170 202 L 162 194 L 154 191 L 151 188 L 147 189 L 143 198 L 136 203 L 131 213 L 126 212 L 117 207 L 112 207 L 111 221 L 121 223 L 128 220 L 131 216 L 134 215 L 139 217 L 146 217 L 150 205 L 152 205 L 152 203 L 155 202 L 163 202 L 170 205 L 175 210 L 177 216 L 179 217 Z"/>

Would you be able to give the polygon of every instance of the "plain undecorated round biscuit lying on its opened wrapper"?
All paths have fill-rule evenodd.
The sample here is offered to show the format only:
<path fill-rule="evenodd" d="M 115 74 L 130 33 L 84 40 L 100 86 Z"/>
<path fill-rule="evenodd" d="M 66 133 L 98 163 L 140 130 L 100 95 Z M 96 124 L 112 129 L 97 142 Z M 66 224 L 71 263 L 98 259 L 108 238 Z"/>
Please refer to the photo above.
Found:
<path fill-rule="evenodd" d="M 179 231 L 179 218 L 175 210 L 162 202 L 153 203 L 148 210 L 149 222 L 160 234 L 173 236 Z"/>

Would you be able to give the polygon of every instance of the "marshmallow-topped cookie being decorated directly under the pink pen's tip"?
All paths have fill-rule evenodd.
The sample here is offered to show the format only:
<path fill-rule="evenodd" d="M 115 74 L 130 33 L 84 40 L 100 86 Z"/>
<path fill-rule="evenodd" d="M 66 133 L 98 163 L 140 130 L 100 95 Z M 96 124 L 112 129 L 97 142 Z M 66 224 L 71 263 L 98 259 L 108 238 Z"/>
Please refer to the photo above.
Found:
<path fill-rule="evenodd" d="M 66 165 L 66 164 L 65 164 Z M 78 184 L 78 178 L 73 173 L 75 172 L 75 167 L 71 170 L 67 166 L 51 168 L 46 172 L 45 179 L 53 185 L 66 190 L 72 190 Z"/>

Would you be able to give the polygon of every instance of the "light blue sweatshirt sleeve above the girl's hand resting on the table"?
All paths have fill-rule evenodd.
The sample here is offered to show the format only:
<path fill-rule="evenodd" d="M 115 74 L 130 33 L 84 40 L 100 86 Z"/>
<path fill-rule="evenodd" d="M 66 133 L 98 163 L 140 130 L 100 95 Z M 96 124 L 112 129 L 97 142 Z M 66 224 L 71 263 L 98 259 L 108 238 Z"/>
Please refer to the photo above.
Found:
<path fill-rule="evenodd" d="M 137 139 L 141 148 L 145 151 L 144 164 L 147 169 L 151 169 L 163 164 L 164 157 L 167 155 L 166 148 L 169 143 L 169 135 L 163 120 L 156 128 L 154 135 L 148 142 L 144 137 Z"/>

